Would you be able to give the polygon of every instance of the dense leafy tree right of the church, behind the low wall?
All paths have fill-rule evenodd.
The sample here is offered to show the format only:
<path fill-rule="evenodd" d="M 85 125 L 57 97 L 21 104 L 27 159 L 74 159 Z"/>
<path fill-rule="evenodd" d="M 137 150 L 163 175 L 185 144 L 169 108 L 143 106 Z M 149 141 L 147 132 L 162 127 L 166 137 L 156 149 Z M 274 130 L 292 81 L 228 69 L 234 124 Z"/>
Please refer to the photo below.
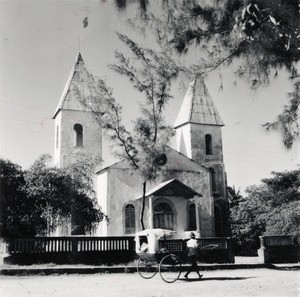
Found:
<path fill-rule="evenodd" d="M 233 238 L 240 249 L 256 250 L 261 235 L 300 238 L 300 170 L 273 172 L 258 186 L 248 187 L 231 208 Z"/>

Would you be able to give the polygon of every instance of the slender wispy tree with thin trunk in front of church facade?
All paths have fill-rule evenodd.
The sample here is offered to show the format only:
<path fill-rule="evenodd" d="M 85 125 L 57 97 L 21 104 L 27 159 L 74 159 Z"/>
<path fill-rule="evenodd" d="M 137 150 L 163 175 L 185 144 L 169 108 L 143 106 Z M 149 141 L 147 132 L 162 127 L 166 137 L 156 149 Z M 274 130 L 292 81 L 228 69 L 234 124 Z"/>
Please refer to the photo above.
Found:
<path fill-rule="evenodd" d="M 134 121 L 133 131 L 122 123 L 122 107 L 113 96 L 112 89 L 102 79 L 88 75 L 90 96 L 75 92 L 84 106 L 91 110 L 112 141 L 113 151 L 126 159 L 143 178 L 141 226 L 145 229 L 143 214 L 147 181 L 154 180 L 160 167 L 166 163 L 165 148 L 173 129 L 164 123 L 163 111 L 170 96 L 171 80 L 177 68 L 164 53 L 144 49 L 127 36 L 118 38 L 130 49 L 131 58 L 116 51 L 116 64 L 110 68 L 126 76 L 133 87 L 143 95 L 139 102 L 141 115 Z M 117 146 L 116 146 L 117 145 Z"/>

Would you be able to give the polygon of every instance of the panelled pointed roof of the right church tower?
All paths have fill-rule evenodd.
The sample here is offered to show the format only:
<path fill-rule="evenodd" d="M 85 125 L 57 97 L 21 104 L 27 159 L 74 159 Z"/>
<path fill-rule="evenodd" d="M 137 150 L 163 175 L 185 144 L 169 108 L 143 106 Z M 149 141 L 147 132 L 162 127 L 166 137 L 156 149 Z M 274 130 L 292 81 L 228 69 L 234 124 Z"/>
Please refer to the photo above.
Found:
<path fill-rule="evenodd" d="M 202 76 L 196 76 L 190 83 L 174 127 L 187 123 L 224 126 Z"/>

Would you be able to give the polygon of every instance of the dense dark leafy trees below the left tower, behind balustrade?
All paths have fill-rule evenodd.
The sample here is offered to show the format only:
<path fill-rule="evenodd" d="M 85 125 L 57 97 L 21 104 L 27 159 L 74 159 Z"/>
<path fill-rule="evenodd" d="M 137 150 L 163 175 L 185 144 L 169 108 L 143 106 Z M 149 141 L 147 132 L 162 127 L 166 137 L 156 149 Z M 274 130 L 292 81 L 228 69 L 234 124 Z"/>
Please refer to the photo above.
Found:
<path fill-rule="evenodd" d="M 92 159 L 66 169 L 47 166 L 42 155 L 26 171 L 1 160 L 1 223 L 3 236 L 48 235 L 63 218 L 72 218 L 73 233 L 92 231 L 105 218 L 91 185 Z"/>

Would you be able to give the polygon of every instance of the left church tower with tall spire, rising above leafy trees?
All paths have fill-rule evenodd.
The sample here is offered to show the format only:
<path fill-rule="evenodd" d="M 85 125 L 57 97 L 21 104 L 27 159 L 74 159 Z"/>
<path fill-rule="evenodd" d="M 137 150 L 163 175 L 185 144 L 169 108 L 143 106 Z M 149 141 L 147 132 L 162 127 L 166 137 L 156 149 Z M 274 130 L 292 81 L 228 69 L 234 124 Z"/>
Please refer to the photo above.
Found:
<path fill-rule="evenodd" d="M 74 91 L 88 96 L 88 73 L 81 54 L 75 64 L 53 115 L 55 120 L 54 165 L 65 167 L 76 162 L 79 156 L 102 157 L 102 128 L 93 114 L 84 107 Z"/>

